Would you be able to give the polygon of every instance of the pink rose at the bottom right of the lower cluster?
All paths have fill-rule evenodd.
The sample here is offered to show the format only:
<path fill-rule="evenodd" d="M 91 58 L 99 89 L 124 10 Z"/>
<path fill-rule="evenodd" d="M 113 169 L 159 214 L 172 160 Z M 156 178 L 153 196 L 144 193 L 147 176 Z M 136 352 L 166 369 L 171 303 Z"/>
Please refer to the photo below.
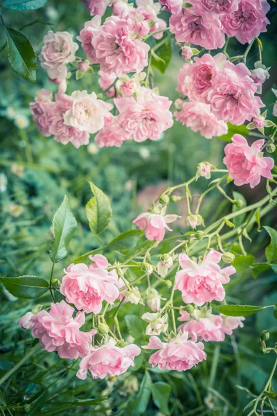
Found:
<path fill-rule="evenodd" d="M 162 343 L 157 336 L 150 338 L 149 344 L 143 348 L 158 349 L 149 358 L 152 367 L 158 365 L 160 370 L 189 370 L 201 361 L 206 360 L 204 344 L 197 343 L 195 334 L 188 339 L 188 332 L 172 338 L 169 343 Z"/>

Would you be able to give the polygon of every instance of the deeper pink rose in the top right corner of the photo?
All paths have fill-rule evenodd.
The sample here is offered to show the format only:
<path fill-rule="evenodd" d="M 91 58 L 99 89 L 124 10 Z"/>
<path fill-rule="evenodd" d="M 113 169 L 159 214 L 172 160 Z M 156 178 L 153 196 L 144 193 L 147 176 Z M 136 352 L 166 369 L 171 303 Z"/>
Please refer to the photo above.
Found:
<path fill-rule="evenodd" d="M 224 32 L 228 37 L 235 36 L 242 44 L 250 43 L 254 37 L 267 31 L 269 11 L 266 0 L 240 0 L 238 10 L 222 17 Z"/>

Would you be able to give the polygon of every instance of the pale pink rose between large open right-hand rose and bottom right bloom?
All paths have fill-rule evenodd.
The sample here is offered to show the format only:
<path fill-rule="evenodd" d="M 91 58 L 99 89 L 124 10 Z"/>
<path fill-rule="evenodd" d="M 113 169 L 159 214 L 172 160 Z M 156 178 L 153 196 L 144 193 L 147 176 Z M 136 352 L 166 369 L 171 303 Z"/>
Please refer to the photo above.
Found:
<path fill-rule="evenodd" d="M 221 316 L 212 313 L 202 316 L 197 312 L 199 311 L 194 311 L 190 317 L 188 312 L 180 311 L 181 317 L 178 320 L 186 322 L 178 327 L 178 331 L 188 332 L 189 335 L 195 333 L 200 341 L 224 341 L 225 332 Z"/>

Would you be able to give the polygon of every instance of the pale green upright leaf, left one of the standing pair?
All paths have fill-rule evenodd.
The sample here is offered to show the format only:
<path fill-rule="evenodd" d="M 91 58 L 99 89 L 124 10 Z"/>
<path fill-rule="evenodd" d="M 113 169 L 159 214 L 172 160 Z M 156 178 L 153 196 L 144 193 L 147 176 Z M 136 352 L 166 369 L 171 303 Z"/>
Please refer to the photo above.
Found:
<path fill-rule="evenodd" d="M 54 239 L 49 248 L 53 263 L 57 263 L 66 257 L 69 243 L 76 228 L 77 221 L 69 208 L 69 198 L 64 196 L 62 204 L 53 216 Z"/>

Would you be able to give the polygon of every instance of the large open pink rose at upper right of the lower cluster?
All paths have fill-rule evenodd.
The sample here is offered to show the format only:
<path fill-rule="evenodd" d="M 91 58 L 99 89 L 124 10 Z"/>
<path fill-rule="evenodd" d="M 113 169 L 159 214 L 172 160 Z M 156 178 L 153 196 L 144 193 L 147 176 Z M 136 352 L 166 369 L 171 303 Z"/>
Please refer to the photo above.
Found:
<path fill-rule="evenodd" d="M 175 289 L 181 291 L 181 297 L 186 304 L 202 306 L 212 300 L 224 300 L 225 290 L 222 285 L 229 282 L 235 268 L 220 268 L 218 263 L 221 258 L 220 252 L 211 249 L 202 263 L 197 264 L 186 254 L 179 254 L 182 270 L 175 276 Z"/>

